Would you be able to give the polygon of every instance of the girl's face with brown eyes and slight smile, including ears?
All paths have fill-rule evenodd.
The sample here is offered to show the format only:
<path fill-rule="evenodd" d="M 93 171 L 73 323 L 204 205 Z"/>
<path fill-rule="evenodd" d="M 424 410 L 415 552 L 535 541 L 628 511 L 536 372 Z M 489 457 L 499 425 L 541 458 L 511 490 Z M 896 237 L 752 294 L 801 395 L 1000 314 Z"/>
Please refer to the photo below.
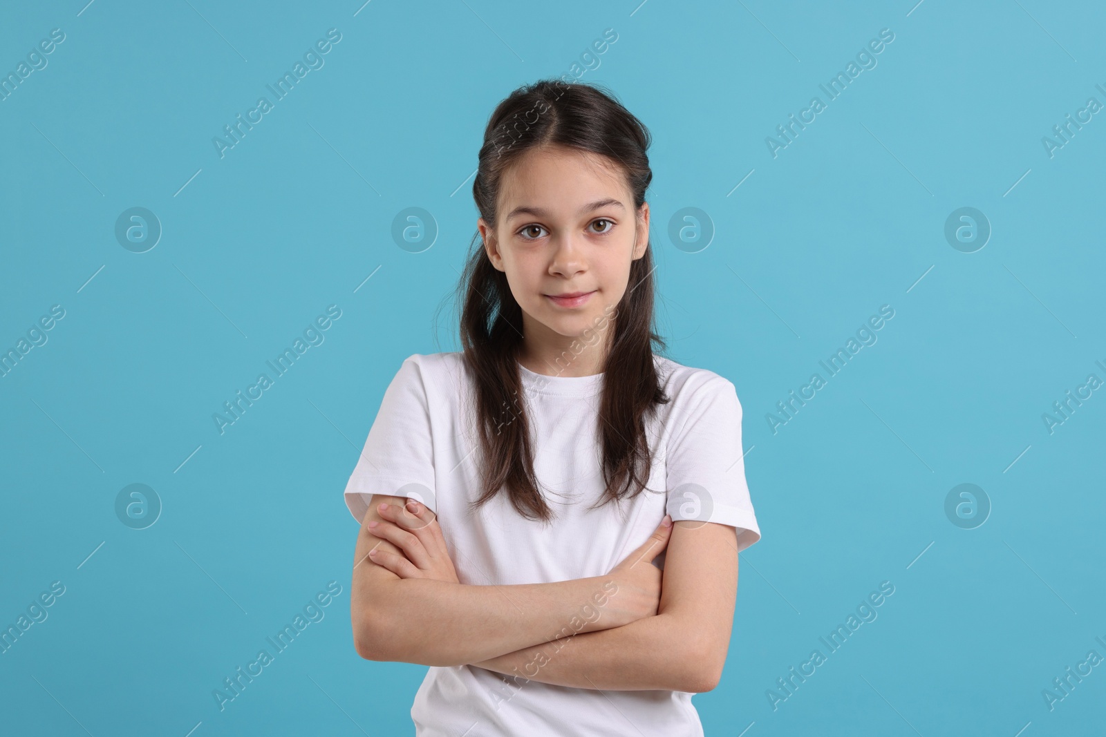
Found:
<path fill-rule="evenodd" d="M 522 307 L 526 343 L 605 337 L 648 245 L 649 206 L 635 212 L 625 175 L 603 156 L 532 148 L 504 173 L 498 212 L 494 230 L 482 218 L 478 227 Z"/>

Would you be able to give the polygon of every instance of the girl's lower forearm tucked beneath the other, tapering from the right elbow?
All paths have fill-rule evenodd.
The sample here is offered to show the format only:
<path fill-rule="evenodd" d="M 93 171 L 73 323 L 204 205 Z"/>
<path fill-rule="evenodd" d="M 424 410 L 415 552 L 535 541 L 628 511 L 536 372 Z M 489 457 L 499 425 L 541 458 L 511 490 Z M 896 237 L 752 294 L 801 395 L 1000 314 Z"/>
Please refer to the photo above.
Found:
<path fill-rule="evenodd" d="M 695 693 L 710 689 L 703 661 L 685 624 L 660 613 L 471 665 L 556 686 Z"/>

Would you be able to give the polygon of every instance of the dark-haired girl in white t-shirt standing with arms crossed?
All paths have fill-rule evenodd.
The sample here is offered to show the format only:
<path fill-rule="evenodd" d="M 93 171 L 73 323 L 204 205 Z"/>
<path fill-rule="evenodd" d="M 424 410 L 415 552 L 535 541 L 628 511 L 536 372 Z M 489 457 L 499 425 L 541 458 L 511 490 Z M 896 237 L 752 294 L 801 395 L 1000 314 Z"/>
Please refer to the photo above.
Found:
<path fill-rule="evenodd" d="M 733 385 L 653 350 L 649 141 L 597 85 L 500 103 L 463 350 L 403 362 L 346 485 L 354 643 L 430 666 L 418 737 L 703 734 L 760 529 Z"/>

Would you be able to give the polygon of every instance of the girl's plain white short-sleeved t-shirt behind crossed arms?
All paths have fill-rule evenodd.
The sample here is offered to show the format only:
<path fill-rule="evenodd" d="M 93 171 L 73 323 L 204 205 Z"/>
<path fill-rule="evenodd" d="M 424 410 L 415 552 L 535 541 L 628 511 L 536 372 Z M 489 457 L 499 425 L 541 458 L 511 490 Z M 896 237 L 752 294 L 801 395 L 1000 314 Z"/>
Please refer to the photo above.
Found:
<path fill-rule="evenodd" d="M 596 427 L 603 375 L 551 377 L 519 365 L 534 473 L 556 517 L 549 526 L 525 519 L 505 489 L 470 515 L 479 496 L 479 445 L 460 352 L 416 354 L 403 362 L 346 484 L 346 505 L 359 524 L 373 494 L 418 498 L 437 515 L 458 579 L 470 585 L 606 575 L 648 539 L 666 510 L 674 519 L 735 527 L 743 550 L 760 539 L 760 528 L 745 485 L 733 385 L 706 369 L 654 360 L 671 401 L 646 423 L 649 482 L 620 512 L 615 503 L 586 508 L 603 493 Z M 417 737 L 703 734 L 687 692 L 572 688 L 471 665 L 430 666 L 410 713 Z"/>

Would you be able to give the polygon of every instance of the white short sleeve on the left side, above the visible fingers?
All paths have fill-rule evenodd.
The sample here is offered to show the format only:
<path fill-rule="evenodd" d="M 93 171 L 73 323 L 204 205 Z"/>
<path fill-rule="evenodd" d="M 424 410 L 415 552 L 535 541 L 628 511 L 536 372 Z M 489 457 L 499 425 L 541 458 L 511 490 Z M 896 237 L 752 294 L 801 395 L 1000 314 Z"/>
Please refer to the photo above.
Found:
<path fill-rule="evenodd" d="M 420 356 L 404 360 L 384 392 L 344 497 L 359 524 L 374 494 L 406 496 L 437 514 L 434 438 Z"/>

